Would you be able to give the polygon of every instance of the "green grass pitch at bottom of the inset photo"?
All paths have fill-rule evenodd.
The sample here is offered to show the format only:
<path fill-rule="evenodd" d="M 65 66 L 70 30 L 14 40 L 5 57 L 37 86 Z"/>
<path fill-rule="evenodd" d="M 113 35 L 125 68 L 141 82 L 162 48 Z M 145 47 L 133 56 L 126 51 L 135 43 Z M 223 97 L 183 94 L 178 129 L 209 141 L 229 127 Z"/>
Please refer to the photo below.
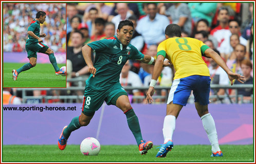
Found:
<path fill-rule="evenodd" d="M 66 77 L 56 76 L 51 64 L 36 64 L 34 68 L 23 71 L 17 77 L 12 79 L 12 70 L 19 69 L 24 63 L 4 63 L 3 65 L 3 87 L 21 88 L 21 87 L 66 87 Z M 58 64 L 59 67 L 65 64 Z"/>

